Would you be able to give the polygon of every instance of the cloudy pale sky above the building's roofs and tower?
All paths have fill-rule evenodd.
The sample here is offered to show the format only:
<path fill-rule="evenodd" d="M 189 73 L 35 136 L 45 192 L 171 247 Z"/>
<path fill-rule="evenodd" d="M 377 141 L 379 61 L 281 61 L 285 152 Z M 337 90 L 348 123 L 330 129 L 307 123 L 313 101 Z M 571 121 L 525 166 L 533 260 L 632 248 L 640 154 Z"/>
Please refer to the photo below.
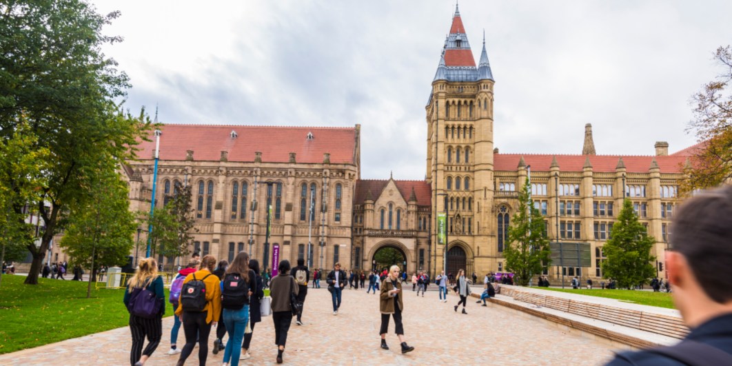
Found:
<path fill-rule="evenodd" d="M 430 96 L 455 1 L 112 1 L 126 108 L 175 124 L 354 127 L 362 179 L 424 179 Z M 205 4 L 205 5 L 204 5 Z M 501 153 L 651 155 L 696 142 L 692 94 L 722 69 L 732 1 L 461 0 L 482 34 Z"/>

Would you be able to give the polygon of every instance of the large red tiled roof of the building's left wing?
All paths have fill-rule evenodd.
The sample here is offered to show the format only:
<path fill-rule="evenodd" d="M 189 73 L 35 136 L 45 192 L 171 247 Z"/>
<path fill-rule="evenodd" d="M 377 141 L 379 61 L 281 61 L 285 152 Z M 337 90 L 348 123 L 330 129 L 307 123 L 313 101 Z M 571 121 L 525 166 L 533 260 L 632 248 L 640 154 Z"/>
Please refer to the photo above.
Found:
<path fill-rule="evenodd" d="M 160 127 L 160 159 L 185 160 L 186 150 L 193 150 L 193 160 L 218 161 L 221 152 L 228 152 L 228 161 L 253 162 L 255 152 L 262 153 L 264 163 L 287 163 L 296 153 L 297 163 L 323 163 L 323 154 L 330 154 L 334 164 L 354 164 L 355 127 L 275 127 L 202 124 L 165 124 Z M 237 138 L 231 138 L 234 130 Z M 307 139 L 307 133 L 313 139 Z M 151 159 L 152 141 L 143 141 L 138 157 Z"/>

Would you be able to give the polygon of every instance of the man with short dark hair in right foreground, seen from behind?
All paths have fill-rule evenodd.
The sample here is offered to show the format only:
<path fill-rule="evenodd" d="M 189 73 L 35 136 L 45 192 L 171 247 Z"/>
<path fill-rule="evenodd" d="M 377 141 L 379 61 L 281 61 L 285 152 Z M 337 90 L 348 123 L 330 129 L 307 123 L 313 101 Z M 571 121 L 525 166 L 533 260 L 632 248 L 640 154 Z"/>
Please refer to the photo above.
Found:
<path fill-rule="evenodd" d="M 665 253 L 673 302 L 691 332 L 681 343 L 622 352 L 607 365 L 732 365 L 732 186 L 681 204 Z"/>

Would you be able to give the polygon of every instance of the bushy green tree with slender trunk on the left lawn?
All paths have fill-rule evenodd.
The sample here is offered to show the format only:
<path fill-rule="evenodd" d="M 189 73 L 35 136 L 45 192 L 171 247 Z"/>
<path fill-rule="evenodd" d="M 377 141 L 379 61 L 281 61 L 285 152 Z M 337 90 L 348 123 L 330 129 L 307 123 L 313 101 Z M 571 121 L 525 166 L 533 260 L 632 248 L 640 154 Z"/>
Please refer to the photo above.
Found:
<path fill-rule="evenodd" d="M 134 242 L 137 224 L 127 200 L 127 183 L 119 176 L 111 160 L 102 160 L 86 193 L 86 199 L 73 206 L 67 231 L 60 247 L 66 250 L 72 265 L 91 271 L 86 297 L 101 266 L 125 263 Z"/>

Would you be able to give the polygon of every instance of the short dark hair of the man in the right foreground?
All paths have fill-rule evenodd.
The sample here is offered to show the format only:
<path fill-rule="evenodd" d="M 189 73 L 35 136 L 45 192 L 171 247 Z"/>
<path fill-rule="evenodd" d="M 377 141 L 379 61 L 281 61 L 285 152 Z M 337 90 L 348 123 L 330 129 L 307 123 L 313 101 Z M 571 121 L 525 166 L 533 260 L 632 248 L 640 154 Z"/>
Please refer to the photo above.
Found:
<path fill-rule="evenodd" d="M 671 248 L 684 255 L 706 295 L 720 304 L 732 300 L 732 283 L 720 275 L 732 263 L 732 186 L 682 203 L 671 225 Z"/>

